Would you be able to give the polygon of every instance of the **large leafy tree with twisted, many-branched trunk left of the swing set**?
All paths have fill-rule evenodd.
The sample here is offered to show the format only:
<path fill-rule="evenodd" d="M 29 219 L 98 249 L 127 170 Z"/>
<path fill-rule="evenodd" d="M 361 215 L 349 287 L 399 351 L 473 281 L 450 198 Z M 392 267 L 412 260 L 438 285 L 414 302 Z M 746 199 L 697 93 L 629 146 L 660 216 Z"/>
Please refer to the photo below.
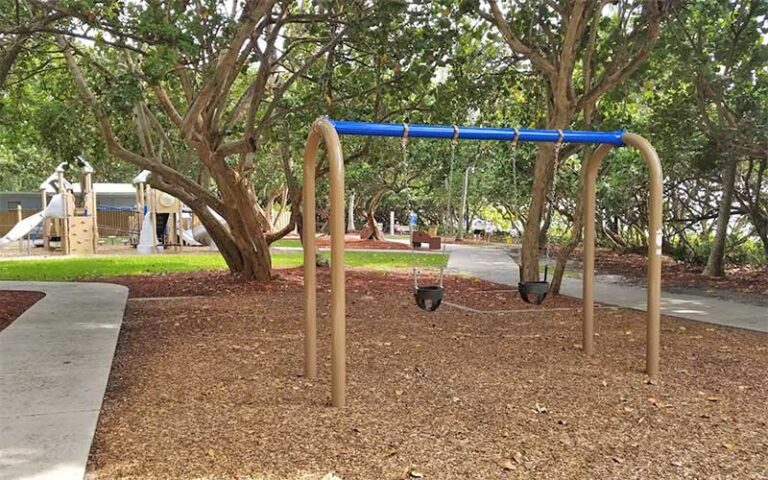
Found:
<path fill-rule="evenodd" d="M 51 2 L 32 10 L 40 11 L 34 18 L 63 17 L 52 24 L 55 45 L 109 153 L 152 171 L 156 188 L 189 205 L 231 271 L 268 280 L 268 245 L 293 222 L 267 233 L 249 181 L 254 155 L 286 114 L 285 93 L 351 28 L 340 18 L 365 28 L 371 12 L 355 2 L 328 11 L 288 1 Z M 77 41 L 82 31 L 92 46 Z M 123 117 L 133 118 L 133 131 L 114 120 Z"/>

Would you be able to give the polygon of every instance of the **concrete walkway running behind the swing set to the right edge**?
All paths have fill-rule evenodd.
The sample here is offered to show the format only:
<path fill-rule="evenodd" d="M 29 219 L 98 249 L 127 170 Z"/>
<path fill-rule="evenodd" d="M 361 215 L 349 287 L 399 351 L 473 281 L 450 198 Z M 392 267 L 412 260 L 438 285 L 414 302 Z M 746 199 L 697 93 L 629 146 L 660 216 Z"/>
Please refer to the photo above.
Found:
<path fill-rule="evenodd" d="M 449 245 L 448 270 L 483 280 L 517 286 L 520 272 L 509 254 L 498 248 Z M 581 279 L 563 278 L 560 292 L 581 298 Z M 595 301 L 625 308 L 645 310 L 646 290 L 631 285 L 595 282 Z M 661 313 L 727 327 L 768 333 L 768 308 L 728 302 L 710 297 L 661 292 Z"/>

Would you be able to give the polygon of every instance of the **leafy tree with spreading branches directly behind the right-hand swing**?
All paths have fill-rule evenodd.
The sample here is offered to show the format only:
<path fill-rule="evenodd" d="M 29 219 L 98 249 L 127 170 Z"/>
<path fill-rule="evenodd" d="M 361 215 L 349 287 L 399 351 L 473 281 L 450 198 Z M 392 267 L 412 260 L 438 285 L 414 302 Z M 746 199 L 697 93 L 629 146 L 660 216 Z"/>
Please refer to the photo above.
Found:
<path fill-rule="evenodd" d="M 598 0 L 510 2 L 505 12 L 489 1 L 488 9 L 476 5 L 474 10 L 496 27 L 520 68 L 532 68 L 540 76 L 547 98 L 543 126 L 567 129 L 578 120 L 591 128 L 600 98 L 648 58 L 659 35 L 663 5 L 655 0 L 621 2 L 618 8 Z M 554 169 L 554 146 L 542 144 L 523 236 L 525 280 L 538 280 L 540 227 Z M 577 224 L 574 231 L 580 230 Z M 556 292 L 558 279 L 553 283 Z"/>

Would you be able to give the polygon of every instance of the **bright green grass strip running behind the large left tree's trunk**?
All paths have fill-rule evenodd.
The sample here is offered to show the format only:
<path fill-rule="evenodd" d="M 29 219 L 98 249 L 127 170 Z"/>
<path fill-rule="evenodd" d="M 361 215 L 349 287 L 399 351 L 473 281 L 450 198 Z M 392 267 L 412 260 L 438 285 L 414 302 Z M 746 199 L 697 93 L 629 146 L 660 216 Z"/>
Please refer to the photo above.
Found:
<path fill-rule="evenodd" d="M 346 264 L 372 270 L 418 266 L 440 267 L 448 261 L 447 255 L 407 252 L 346 252 Z M 298 267 L 303 262 L 302 252 L 275 252 L 275 268 Z M 199 270 L 224 270 L 226 264 L 218 253 L 121 255 L 97 257 L 58 257 L 30 260 L 0 261 L 0 280 L 80 280 L 122 275 L 151 275 Z"/>

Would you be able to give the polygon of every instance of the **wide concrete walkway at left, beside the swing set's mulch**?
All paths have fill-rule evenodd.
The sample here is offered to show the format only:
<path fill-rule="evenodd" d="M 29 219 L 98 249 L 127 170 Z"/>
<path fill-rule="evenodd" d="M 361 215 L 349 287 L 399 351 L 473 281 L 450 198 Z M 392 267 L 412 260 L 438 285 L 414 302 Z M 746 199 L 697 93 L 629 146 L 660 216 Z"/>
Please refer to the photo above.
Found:
<path fill-rule="evenodd" d="M 0 332 L 0 479 L 82 480 L 128 289 L 0 282 L 46 296 Z"/>

